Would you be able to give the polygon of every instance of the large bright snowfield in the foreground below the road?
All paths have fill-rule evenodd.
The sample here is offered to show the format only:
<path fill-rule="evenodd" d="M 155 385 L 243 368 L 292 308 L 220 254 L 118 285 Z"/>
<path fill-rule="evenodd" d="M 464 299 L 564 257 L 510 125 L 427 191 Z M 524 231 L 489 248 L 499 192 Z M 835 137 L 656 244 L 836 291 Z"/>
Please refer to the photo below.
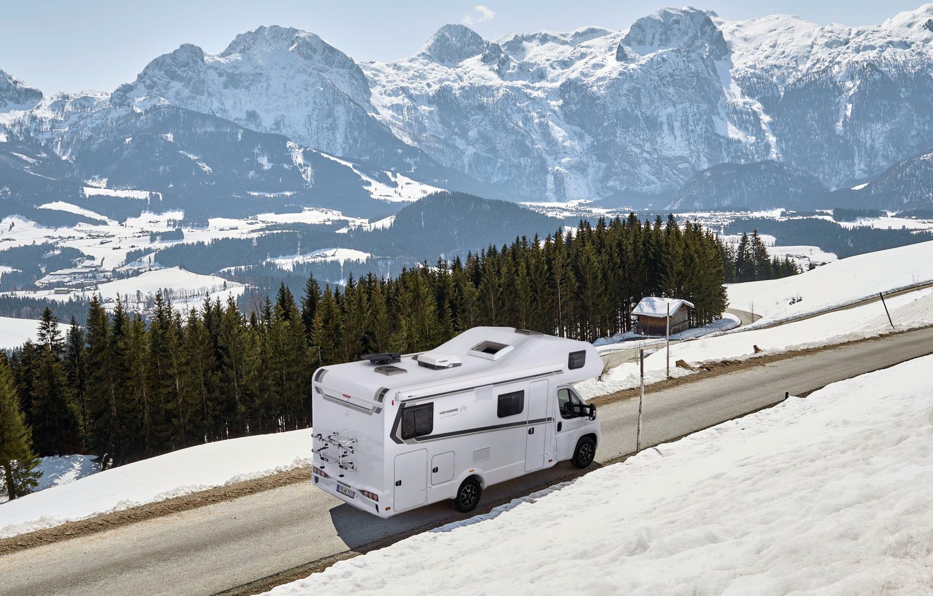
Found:
<path fill-rule="evenodd" d="M 270 593 L 929 593 L 930 367 L 792 397 Z"/>

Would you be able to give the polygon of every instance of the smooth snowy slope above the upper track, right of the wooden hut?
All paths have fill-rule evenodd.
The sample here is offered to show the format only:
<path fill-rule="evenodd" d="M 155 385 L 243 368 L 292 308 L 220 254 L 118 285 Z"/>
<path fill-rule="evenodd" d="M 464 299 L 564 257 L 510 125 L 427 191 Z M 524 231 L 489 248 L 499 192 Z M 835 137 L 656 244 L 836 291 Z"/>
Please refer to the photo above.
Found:
<path fill-rule="evenodd" d="M 925 281 L 933 281 L 933 241 L 850 256 L 778 280 L 731 284 L 727 291 L 732 308 L 761 314 L 763 325 Z"/>

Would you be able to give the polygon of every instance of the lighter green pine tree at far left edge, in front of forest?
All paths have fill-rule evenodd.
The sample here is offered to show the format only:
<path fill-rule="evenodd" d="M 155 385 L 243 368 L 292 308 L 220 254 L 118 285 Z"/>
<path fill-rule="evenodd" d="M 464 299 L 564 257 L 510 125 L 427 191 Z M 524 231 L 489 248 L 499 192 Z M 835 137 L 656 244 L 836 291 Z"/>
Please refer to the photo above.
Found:
<path fill-rule="evenodd" d="M 39 460 L 31 443 L 7 358 L 0 356 L 0 468 L 3 468 L 0 492 L 6 492 L 10 500 L 33 492 L 38 486 Z"/>

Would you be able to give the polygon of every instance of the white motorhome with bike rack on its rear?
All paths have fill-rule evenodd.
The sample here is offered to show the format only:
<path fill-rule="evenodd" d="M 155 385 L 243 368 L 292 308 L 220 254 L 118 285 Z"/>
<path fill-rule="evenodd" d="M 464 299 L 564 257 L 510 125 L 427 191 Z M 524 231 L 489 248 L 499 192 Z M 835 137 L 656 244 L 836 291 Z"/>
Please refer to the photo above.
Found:
<path fill-rule="evenodd" d="M 599 422 L 573 383 L 602 372 L 592 344 L 475 327 L 437 349 L 318 368 L 314 484 L 387 518 L 570 460 L 592 463 Z"/>

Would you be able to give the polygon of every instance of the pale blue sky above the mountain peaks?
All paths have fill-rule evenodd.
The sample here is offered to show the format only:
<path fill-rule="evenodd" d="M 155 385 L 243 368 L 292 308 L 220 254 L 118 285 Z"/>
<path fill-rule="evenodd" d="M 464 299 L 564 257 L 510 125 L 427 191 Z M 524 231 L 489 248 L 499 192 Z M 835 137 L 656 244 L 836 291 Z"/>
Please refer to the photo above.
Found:
<path fill-rule="evenodd" d="M 0 70 L 46 93 L 113 90 L 183 43 L 208 53 L 237 34 L 278 24 L 323 37 L 357 62 L 415 53 L 438 28 L 463 22 L 491 39 L 509 32 L 620 30 L 663 0 L 0 0 Z M 728 20 L 775 13 L 819 24 L 880 24 L 922 0 L 708 0 Z"/>

